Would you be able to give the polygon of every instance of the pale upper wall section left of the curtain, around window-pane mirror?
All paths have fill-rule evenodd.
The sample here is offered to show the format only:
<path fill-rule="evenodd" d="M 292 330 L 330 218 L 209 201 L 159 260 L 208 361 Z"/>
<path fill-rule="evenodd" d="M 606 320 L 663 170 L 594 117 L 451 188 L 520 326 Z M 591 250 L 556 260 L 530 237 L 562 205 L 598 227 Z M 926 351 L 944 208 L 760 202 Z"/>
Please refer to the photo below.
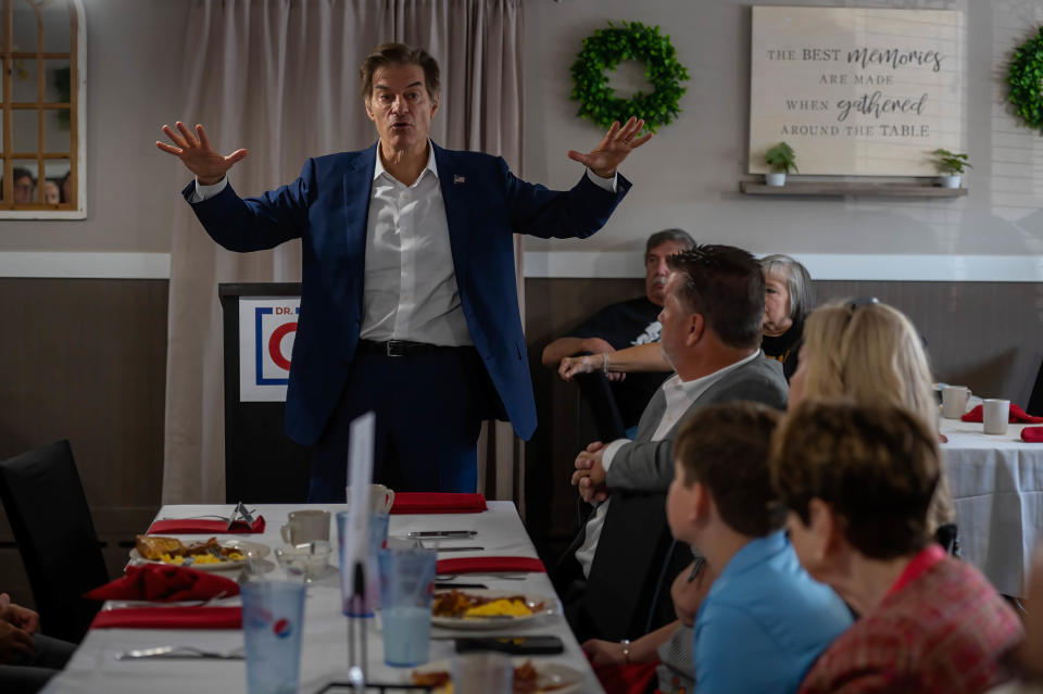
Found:
<path fill-rule="evenodd" d="M 0 253 L 169 251 L 168 220 L 187 181 L 177 176 L 180 164 L 154 142 L 161 125 L 186 117 L 177 104 L 189 2 L 85 0 L 84 5 L 87 218 L 2 219 Z"/>

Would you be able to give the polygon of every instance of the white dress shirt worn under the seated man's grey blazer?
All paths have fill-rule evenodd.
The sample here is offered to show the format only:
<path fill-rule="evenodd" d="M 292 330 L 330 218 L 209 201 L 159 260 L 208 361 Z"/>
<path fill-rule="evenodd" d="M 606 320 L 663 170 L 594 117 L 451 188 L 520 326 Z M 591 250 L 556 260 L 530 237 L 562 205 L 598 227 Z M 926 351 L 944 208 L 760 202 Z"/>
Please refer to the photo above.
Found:
<path fill-rule="evenodd" d="M 666 409 L 663 411 L 663 418 L 659 419 L 659 425 L 655 428 L 652 438 L 649 440 L 662 441 L 665 439 L 666 434 L 674 428 L 674 425 L 676 425 L 678 420 L 684 416 L 684 413 L 688 412 L 688 408 L 692 406 L 692 403 L 709 390 L 711 386 L 724 378 L 729 371 L 736 370 L 743 364 L 749 364 L 758 356 L 761 356 L 759 350 L 744 359 L 729 364 L 725 368 L 717 369 L 713 374 L 687 382 L 682 381 L 681 377 L 677 374 L 663 381 L 661 388 L 663 395 L 666 398 Z M 601 465 L 605 469 L 605 472 L 608 471 L 608 467 L 612 465 L 612 458 L 619 449 L 628 443 L 633 442 L 629 439 L 616 439 L 605 446 L 604 453 L 601 456 Z M 601 531 L 605 527 L 605 514 L 608 513 L 610 501 L 612 500 L 605 500 L 594 509 L 594 513 L 590 515 L 583 535 L 583 544 L 576 550 L 576 560 L 579 561 L 579 565 L 582 567 L 583 576 L 588 578 L 590 578 L 590 566 L 594 561 L 594 554 L 598 552 L 598 540 L 601 538 Z"/>

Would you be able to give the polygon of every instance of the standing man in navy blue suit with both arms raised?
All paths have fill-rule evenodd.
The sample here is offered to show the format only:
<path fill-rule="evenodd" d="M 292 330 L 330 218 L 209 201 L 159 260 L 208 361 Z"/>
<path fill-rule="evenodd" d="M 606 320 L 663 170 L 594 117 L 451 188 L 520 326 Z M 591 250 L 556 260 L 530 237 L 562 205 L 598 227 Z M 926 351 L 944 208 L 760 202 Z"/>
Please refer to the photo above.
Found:
<path fill-rule="evenodd" d="M 518 316 L 514 234 L 587 237 L 630 184 L 617 166 L 642 121 L 614 124 L 568 191 L 525 182 L 501 157 L 430 141 L 439 71 L 422 49 L 385 43 L 360 71 L 379 140 L 311 159 L 288 186 L 241 199 L 226 173 L 247 155 L 163 126 L 156 142 L 196 175 L 185 198 L 233 251 L 302 240 L 301 313 L 286 432 L 314 444 L 310 502 L 344 500 L 348 424 L 374 411 L 374 479 L 399 491 L 474 491 L 481 421 L 536 429 Z"/>

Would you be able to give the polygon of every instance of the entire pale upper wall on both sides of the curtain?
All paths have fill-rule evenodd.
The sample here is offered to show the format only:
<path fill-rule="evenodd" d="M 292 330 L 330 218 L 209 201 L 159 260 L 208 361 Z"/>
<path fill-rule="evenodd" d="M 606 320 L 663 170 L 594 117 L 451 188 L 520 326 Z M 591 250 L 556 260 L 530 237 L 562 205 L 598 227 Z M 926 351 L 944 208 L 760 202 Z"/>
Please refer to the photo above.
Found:
<path fill-rule="evenodd" d="M 787 1 L 762 0 L 787 4 Z M 746 177 L 750 3 L 741 0 L 528 0 L 526 2 L 526 178 L 570 186 L 580 173 L 565 156 L 601 131 L 575 116 L 569 66 L 581 40 L 608 20 L 658 24 L 691 79 L 678 122 L 629 160 L 634 187 L 608 226 L 586 241 L 527 239 L 526 250 L 579 252 L 585 272 L 618 274 L 649 231 L 682 226 L 696 238 L 754 252 L 930 254 L 955 258 L 1043 255 L 1043 138 L 1019 126 L 1003 77 L 1011 47 L 1043 23 L 1043 0 L 807 0 L 803 4 L 962 10 L 966 14 L 967 151 L 970 194 L 954 200 L 762 199 L 742 195 Z M 153 142 L 178 111 L 189 3 L 87 0 L 88 203 L 85 220 L 0 222 L 9 251 L 169 250 L 167 220 L 184 176 Z M 615 255 L 613 252 L 621 252 Z M 615 257 L 613 257 L 615 256 Z M 569 256 L 562 256 L 568 258 Z M 544 256 L 545 260 L 545 256 Z M 874 258 L 871 263 L 879 263 Z M 568 264 L 568 263 L 566 263 Z M 575 263 L 574 263 L 575 265 Z M 916 263 L 912 264 L 916 267 Z M 992 279 L 1004 279 L 993 263 Z M 629 272 L 629 270 L 628 270 Z M 944 277 L 935 274 L 934 277 Z M 979 277 L 988 279 L 990 277 Z M 1023 278 L 1023 277 L 1022 277 Z"/>

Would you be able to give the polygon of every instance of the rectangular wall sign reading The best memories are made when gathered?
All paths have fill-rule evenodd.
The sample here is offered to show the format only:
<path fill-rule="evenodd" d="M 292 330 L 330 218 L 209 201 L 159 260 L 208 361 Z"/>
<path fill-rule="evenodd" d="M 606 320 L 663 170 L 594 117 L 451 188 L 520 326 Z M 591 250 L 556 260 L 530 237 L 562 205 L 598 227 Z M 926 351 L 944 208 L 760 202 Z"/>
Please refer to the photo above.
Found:
<path fill-rule="evenodd" d="M 796 150 L 801 174 L 932 176 L 963 150 L 963 14 L 753 8 L 749 172 Z"/>

